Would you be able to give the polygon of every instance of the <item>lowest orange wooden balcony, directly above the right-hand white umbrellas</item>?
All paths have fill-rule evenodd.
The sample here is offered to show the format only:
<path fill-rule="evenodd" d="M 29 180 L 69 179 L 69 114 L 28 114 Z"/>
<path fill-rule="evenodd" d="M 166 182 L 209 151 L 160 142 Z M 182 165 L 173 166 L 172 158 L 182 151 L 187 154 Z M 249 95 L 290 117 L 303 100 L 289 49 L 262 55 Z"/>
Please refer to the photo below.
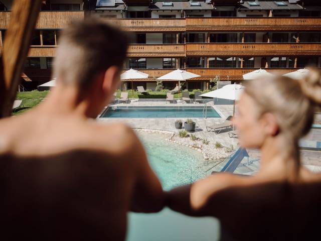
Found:
<path fill-rule="evenodd" d="M 201 75 L 201 77 L 191 80 L 209 80 L 216 75 L 220 76 L 220 80 L 243 80 L 243 74 L 256 70 L 257 68 L 186 68 L 186 71 Z M 267 68 L 266 71 L 273 74 L 286 74 L 296 71 L 294 68 Z"/>

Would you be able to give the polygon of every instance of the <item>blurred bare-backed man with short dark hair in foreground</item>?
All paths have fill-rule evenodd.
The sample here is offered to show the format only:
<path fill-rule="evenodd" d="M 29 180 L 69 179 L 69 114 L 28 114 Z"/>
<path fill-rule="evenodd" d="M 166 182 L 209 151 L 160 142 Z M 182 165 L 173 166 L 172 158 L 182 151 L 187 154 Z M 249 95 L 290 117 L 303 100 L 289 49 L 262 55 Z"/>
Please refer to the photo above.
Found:
<path fill-rule="evenodd" d="M 0 239 L 124 240 L 127 211 L 163 208 L 133 131 L 89 119 L 119 84 L 127 39 L 87 20 L 59 43 L 47 100 L 0 121 Z"/>

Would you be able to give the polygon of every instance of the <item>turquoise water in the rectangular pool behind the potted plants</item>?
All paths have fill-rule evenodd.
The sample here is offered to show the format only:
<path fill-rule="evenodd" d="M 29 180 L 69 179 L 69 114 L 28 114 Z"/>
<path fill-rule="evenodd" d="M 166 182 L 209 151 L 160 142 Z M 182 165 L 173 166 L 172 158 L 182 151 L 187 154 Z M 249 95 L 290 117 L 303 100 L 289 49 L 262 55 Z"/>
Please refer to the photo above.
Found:
<path fill-rule="evenodd" d="M 203 117 L 202 106 L 113 106 L 108 107 L 100 117 L 103 118 L 183 118 Z M 207 117 L 221 117 L 208 106 Z"/>

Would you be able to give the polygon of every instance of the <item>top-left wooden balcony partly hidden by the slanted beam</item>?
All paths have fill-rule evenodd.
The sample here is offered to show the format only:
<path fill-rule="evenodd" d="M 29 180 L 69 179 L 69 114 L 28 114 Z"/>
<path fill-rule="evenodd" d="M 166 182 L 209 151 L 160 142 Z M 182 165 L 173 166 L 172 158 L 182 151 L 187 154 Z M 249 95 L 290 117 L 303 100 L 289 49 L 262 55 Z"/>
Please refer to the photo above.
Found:
<path fill-rule="evenodd" d="M 0 12 L 0 29 L 7 29 L 11 12 Z M 63 29 L 73 20 L 84 19 L 83 11 L 43 11 L 39 13 L 36 29 Z"/>

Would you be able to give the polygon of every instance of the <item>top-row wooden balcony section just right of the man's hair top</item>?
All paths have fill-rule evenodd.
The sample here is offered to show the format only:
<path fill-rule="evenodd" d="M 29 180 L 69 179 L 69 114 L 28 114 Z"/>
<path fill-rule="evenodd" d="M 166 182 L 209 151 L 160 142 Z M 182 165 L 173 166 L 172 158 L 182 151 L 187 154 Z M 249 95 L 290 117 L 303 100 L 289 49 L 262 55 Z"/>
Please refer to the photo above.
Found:
<path fill-rule="evenodd" d="M 133 32 L 184 32 L 185 19 L 106 19 L 107 23 L 124 31 Z"/>

